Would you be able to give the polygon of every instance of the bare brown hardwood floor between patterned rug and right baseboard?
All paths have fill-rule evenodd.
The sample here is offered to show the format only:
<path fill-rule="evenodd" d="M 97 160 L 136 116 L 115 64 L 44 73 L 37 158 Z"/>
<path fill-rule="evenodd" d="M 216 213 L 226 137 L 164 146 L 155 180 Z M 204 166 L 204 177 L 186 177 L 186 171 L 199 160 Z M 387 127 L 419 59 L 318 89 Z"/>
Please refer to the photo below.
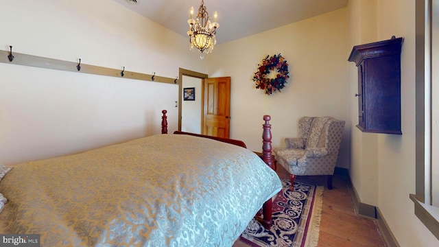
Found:
<path fill-rule="evenodd" d="M 283 167 L 277 167 L 280 177 L 289 178 Z M 298 176 L 298 181 L 324 186 L 322 220 L 318 247 L 385 246 L 375 220 L 355 214 L 349 180 L 333 176 L 333 189 L 327 189 L 326 176 Z M 246 246 L 235 243 L 233 247 Z"/>

